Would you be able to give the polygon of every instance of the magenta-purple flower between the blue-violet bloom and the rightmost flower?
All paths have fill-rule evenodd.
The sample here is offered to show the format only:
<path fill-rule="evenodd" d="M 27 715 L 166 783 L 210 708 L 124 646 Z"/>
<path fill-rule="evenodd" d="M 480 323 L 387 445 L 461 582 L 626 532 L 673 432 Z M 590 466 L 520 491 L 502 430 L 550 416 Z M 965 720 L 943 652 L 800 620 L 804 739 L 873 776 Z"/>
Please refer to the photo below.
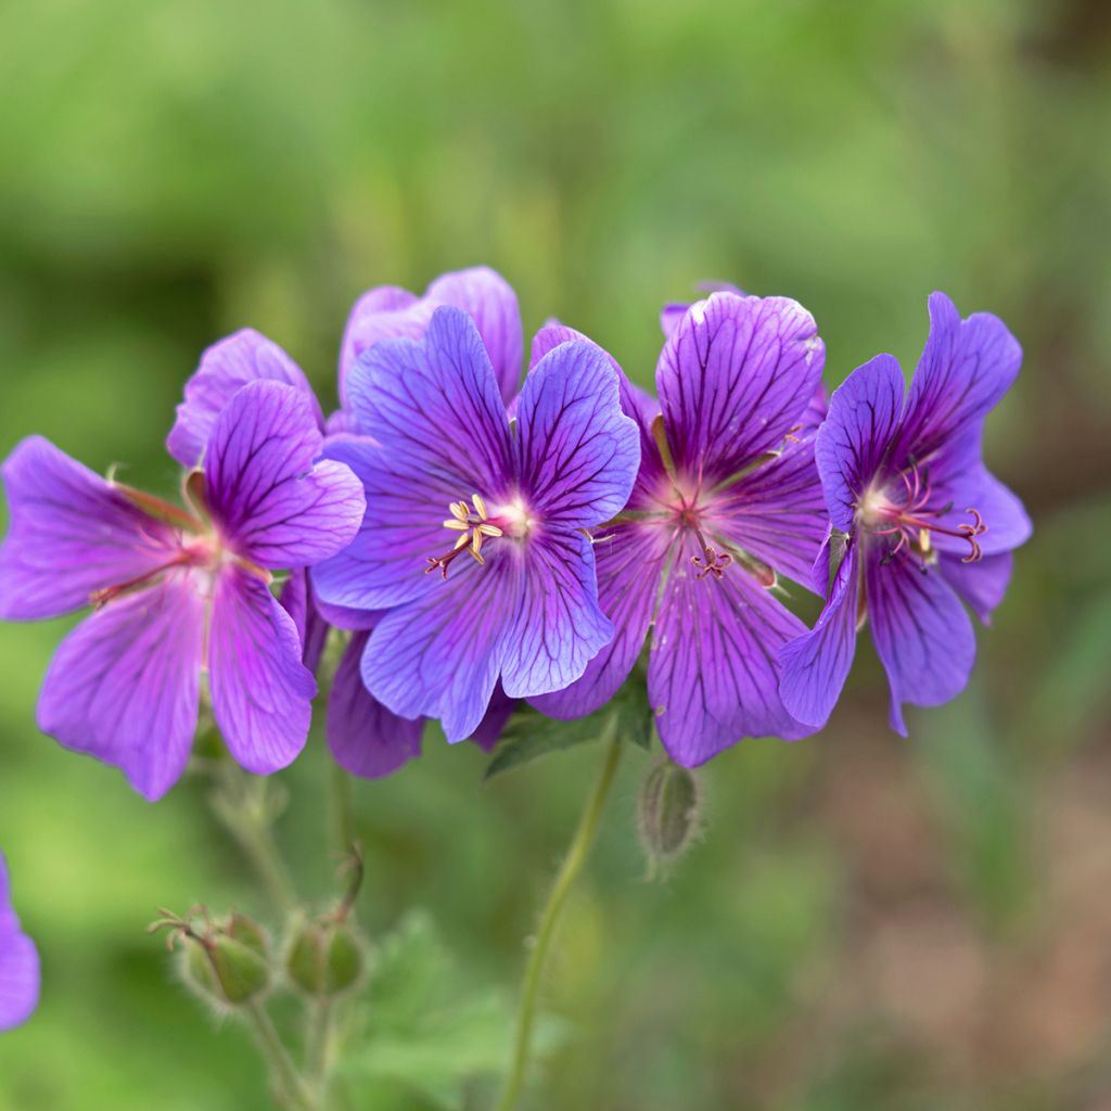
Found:
<path fill-rule="evenodd" d="M 604 704 L 654 624 L 657 727 L 671 757 L 694 765 L 745 735 L 809 732 L 780 701 L 775 661 L 805 627 L 769 588 L 778 573 L 809 581 L 824 533 L 808 417 L 824 348 L 784 298 L 715 292 L 677 316 L 663 316 L 660 416 L 627 393 L 641 433 L 635 488 L 595 533 L 618 633 L 581 680 L 533 702 L 558 718 Z"/>

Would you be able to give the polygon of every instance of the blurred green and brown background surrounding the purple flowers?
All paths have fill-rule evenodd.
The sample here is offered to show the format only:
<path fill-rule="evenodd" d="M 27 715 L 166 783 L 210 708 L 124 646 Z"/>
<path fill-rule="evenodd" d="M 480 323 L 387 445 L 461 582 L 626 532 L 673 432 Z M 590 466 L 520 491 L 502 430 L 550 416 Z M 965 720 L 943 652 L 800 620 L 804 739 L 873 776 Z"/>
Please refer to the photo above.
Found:
<path fill-rule="evenodd" d="M 1109 13 L 0 7 L 4 453 L 41 432 L 170 491 L 162 439 L 210 341 L 259 328 L 330 401 L 361 290 L 476 262 L 516 286 L 527 329 L 562 317 L 642 383 L 659 306 L 707 278 L 807 304 L 830 386 L 880 350 L 911 368 L 935 288 L 1024 347 L 987 452 L 1037 531 L 969 690 L 911 711 L 903 741 L 865 649 L 822 735 L 704 769 L 704 834 L 662 884 L 642 882 L 632 823 L 651 758 L 630 752 L 561 935 L 549 998 L 569 1025 L 531 1107 L 1111 1107 Z M 0 629 L 0 847 L 46 974 L 40 1012 L 0 1040 L 0 1108 L 264 1107 L 244 1035 L 142 929 L 160 904 L 266 901 L 202 782 L 150 807 L 37 733 L 62 631 Z M 362 921 L 381 935 L 427 907 L 460 977 L 508 987 L 601 753 L 483 787 L 471 745 L 426 747 L 357 788 Z M 326 771 L 314 738 L 280 777 L 314 899 Z M 354 1105 L 436 1107 L 400 1082 Z"/>

